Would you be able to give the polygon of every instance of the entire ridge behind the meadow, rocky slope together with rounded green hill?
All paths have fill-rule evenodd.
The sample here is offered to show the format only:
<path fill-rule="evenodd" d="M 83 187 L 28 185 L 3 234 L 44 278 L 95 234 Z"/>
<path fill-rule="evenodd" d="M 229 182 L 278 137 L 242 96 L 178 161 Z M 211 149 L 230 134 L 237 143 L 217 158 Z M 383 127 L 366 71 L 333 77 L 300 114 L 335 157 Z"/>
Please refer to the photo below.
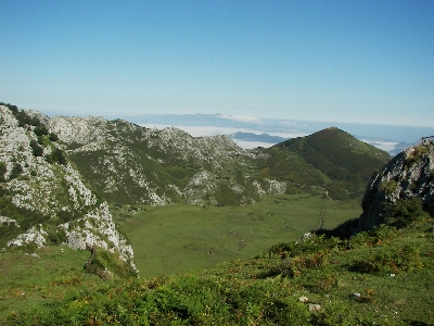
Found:
<path fill-rule="evenodd" d="M 27 114 L 59 137 L 58 148 L 88 187 L 120 204 L 238 205 L 267 193 L 298 191 L 295 184 L 326 187 L 335 199 L 356 198 L 388 160 L 387 153 L 337 128 L 248 151 L 227 136 L 192 137 L 175 127 L 149 129 L 123 120 Z"/>

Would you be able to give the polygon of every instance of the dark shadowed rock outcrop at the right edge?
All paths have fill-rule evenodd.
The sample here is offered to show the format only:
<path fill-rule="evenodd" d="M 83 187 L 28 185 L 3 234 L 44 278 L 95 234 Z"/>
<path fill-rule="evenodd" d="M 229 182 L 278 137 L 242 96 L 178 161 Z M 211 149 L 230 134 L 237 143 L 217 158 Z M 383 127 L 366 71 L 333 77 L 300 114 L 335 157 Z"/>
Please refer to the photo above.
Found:
<path fill-rule="evenodd" d="M 425 208 L 434 203 L 433 143 L 403 151 L 372 176 L 362 200 L 360 228 L 384 223 L 385 204 L 406 198 L 420 198 Z"/>

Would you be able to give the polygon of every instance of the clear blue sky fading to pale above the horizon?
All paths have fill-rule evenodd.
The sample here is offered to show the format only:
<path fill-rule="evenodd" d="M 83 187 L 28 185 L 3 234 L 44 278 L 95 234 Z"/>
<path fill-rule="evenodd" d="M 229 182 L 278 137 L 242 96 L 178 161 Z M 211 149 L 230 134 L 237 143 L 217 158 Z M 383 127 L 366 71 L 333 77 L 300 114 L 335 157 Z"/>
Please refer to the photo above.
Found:
<path fill-rule="evenodd" d="M 434 124 L 434 1 L 0 0 L 0 101 Z"/>

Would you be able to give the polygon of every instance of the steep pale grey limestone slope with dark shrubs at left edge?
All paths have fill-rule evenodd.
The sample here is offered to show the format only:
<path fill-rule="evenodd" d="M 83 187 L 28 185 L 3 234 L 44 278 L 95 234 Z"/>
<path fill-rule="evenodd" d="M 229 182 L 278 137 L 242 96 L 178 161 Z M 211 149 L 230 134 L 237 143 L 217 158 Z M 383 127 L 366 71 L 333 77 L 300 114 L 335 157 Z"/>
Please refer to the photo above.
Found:
<path fill-rule="evenodd" d="M 99 246 L 136 269 L 132 248 L 116 229 L 107 203 L 86 186 L 75 165 L 63 156 L 56 138 L 38 126 L 48 120 L 38 114 L 38 120 L 29 122 L 36 114 L 27 112 L 27 123 L 16 113 L 0 105 L 0 223 L 15 227 L 2 235 L 13 238 L 2 240 L 8 247 L 43 247 L 59 239 L 74 249 Z"/>

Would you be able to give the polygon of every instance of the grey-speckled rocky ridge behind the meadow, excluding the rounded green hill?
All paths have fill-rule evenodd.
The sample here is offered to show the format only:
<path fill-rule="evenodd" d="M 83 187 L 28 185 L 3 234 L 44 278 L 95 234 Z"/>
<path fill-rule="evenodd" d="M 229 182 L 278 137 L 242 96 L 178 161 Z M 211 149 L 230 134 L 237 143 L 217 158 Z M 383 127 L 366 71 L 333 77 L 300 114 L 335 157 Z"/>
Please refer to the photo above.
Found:
<path fill-rule="evenodd" d="M 285 184 L 245 164 L 247 153 L 226 136 L 192 137 L 170 127 L 146 129 L 126 121 L 62 117 L 50 130 L 105 200 L 165 205 L 253 203 Z"/>

